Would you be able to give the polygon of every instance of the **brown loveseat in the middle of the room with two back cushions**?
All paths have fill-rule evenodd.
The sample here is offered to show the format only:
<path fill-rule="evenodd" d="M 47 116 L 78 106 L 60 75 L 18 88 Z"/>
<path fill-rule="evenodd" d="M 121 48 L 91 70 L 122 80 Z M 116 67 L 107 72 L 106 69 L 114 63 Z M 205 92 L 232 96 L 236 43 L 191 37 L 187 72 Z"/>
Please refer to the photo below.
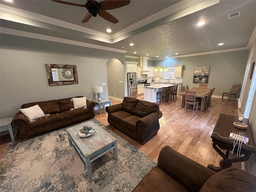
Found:
<path fill-rule="evenodd" d="M 108 123 L 140 144 L 146 143 L 159 130 L 162 117 L 159 104 L 124 97 L 120 104 L 107 106 Z"/>

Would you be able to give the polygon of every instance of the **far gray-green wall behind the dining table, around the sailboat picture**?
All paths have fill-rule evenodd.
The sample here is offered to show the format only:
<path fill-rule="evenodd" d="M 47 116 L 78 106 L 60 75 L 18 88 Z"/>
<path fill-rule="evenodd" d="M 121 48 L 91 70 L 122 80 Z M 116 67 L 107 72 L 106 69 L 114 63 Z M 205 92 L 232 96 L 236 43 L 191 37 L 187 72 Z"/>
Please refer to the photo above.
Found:
<path fill-rule="evenodd" d="M 198 87 L 193 83 L 194 66 L 210 65 L 208 88 L 216 87 L 213 95 L 221 96 L 230 91 L 232 84 L 242 84 L 248 50 L 167 59 L 167 67 L 184 65 L 182 85 Z M 165 66 L 166 60 L 156 60 L 154 65 Z"/>

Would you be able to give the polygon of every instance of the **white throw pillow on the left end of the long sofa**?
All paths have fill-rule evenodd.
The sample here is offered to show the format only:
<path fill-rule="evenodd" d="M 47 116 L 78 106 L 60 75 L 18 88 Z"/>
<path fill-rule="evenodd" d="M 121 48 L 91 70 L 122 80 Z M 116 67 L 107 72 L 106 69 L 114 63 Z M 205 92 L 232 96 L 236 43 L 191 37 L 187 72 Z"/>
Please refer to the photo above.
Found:
<path fill-rule="evenodd" d="M 19 111 L 27 116 L 30 123 L 34 122 L 36 119 L 38 119 L 40 117 L 45 116 L 44 112 L 42 111 L 42 109 L 38 105 L 34 105 L 32 107 L 20 109 Z"/>

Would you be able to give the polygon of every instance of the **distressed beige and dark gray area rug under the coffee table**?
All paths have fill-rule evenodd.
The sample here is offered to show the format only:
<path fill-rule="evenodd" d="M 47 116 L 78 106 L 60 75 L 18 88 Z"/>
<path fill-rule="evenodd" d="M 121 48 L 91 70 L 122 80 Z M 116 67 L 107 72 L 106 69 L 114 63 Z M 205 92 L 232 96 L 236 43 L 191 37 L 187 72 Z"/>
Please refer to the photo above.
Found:
<path fill-rule="evenodd" d="M 68 144 L 66 127 L 9 143 L 1 159 L 0 191 L 131 192 L 156 163 L 98 120 L 90 121 L 117 138 L 118 144 L 118 159 L 111 150 L 91 163 L 90 182 L 85 165 Z"/>

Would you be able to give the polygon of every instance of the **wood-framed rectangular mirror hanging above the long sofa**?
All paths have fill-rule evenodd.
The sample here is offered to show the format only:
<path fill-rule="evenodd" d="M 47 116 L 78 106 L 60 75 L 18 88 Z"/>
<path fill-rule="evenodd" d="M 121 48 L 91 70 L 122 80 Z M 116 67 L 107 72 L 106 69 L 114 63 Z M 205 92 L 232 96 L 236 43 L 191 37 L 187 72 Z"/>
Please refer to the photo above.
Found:
<path fill-rule="evenodd" d="M 76 65 L 45 64 L 49 86 L 78 84 Z"/>

